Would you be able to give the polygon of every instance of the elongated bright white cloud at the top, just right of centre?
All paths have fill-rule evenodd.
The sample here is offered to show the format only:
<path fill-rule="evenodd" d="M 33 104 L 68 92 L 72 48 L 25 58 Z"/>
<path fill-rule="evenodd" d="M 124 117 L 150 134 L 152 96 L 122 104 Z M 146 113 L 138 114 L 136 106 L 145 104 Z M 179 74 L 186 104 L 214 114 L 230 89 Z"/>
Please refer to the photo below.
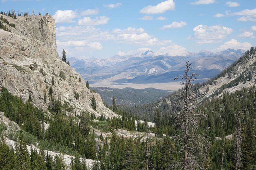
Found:
<path fill-rule="evenodd" d="M 162 14 L 168 10 L 174 10 L 174 8 L 175 8 L 175 3 L 173 2 L 173 0 L 167 0 L 167 1 L 157 4 L 156 6 L 148 5 L 144 8 L 142 8 L 142 10 L 140 10 L 140 13 Z"/>

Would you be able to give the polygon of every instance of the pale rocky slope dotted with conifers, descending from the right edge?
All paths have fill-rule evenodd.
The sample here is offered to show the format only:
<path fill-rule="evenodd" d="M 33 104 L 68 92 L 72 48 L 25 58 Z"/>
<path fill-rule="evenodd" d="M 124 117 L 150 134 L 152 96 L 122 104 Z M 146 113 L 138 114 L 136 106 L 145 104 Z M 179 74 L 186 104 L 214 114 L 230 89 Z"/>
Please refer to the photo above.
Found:
<path fill-rule="evenodd" d="M 204 84 L 199 89 L 204 97 L 216 97 L 223 92 L 234 92 L 241 88 L 248 88 L 256 85 L 256 49 L 252 47 L 246 51 L 231 66 L 227 67 L 220 74 Z M 206 90 L 209 87 L 208 90 Z M 206 92 L 207 91 L 207 92 Z"/>

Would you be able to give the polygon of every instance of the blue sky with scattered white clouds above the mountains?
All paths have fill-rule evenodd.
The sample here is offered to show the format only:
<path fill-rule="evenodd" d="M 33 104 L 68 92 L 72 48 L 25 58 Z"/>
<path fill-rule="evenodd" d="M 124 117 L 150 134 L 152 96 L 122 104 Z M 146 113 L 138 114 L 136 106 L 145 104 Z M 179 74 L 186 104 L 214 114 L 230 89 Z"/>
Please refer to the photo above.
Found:
<path fill-rule="evenodd" d="M 254 0 L 1 0 L 12 9 L 53 16 L 58 53 L 78 59 L 256 46 Z"/>

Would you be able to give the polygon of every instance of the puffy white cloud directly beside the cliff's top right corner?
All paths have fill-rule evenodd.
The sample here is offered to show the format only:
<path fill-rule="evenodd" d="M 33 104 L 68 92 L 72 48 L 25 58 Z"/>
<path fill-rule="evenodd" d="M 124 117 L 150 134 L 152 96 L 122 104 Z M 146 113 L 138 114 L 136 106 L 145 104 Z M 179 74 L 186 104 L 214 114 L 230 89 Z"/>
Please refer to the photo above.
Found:
<path fill-rule="evenodd" d="M 78 17 L 78 14 L 72 10 L 57 10 L 53 15 L 56 23 L 75 22 L 73 19 Z"/>

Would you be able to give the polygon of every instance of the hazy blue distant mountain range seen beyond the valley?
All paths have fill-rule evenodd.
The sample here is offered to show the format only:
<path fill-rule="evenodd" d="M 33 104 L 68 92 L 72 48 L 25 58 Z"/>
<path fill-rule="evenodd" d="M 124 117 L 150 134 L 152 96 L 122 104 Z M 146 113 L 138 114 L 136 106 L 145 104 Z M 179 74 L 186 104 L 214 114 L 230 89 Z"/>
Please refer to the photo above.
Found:
<path fill-rule="evenodd" d="M 172 56 L 168 52 L 146 51 L 135 55 L 115 55 L 109 59 L 80 60 L 72 57 L 68 61 L 92 86 L 114 86 L 173 82 L 174 77 L 183 73 L 186 61 L 190 61 L 201 79 L 212 78 L 244 53 L 242 49 L 226 49 L 216 53 L 187 51 L 183 56 Z"/>

